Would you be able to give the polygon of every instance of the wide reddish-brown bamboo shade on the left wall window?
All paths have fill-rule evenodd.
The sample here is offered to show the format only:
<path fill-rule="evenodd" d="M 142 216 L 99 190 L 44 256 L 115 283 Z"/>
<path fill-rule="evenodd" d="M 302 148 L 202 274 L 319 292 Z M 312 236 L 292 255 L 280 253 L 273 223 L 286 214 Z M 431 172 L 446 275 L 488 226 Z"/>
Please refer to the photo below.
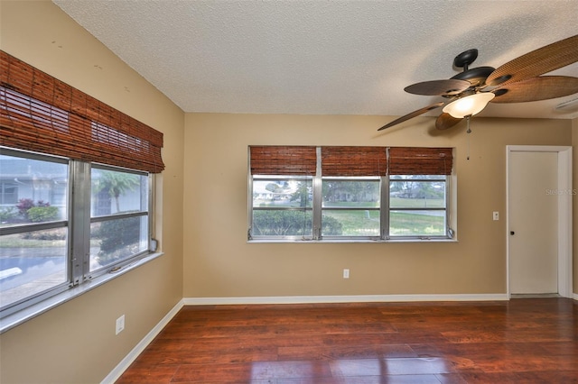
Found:
<path fill-rule="evenodd" d="M 0 145 L 158 173 L 163 133 L 0 50 Z"/>

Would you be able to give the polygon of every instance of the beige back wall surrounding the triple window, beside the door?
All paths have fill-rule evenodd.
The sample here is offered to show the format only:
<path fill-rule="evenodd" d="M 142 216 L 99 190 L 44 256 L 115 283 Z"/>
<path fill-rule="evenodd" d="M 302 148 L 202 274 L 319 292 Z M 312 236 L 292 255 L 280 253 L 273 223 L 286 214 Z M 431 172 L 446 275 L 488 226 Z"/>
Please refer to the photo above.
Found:
<path fill-rule="evenodd" d="M 184 297 L 506 293 L 506 145 L 571 145 L 572 122 L 478 117 L 468 135 L 421 117 L 378 133 L 387 121 L 186 114 Z M 247 243 L 251 144 L 456 147 L 459 242 Z"/>

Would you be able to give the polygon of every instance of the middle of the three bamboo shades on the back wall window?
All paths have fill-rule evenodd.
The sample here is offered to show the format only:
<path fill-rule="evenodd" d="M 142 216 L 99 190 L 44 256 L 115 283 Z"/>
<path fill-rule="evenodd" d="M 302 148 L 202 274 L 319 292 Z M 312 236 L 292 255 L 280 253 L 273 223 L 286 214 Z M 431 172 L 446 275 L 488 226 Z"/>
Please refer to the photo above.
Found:
<path fill-rule="evenodd" d="M 322 147 L 323 176 L 386 176 L 384 147 Z"/>

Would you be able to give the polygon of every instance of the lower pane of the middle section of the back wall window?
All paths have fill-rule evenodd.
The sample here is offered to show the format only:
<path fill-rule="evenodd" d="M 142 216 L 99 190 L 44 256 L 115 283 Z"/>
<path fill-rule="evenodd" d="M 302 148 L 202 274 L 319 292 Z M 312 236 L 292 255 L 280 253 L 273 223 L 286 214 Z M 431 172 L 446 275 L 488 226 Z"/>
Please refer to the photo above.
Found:
<path fill-rule="evenodd" d="M 378 236 L 378 210 L 323 209 L 323 236 Z"/>

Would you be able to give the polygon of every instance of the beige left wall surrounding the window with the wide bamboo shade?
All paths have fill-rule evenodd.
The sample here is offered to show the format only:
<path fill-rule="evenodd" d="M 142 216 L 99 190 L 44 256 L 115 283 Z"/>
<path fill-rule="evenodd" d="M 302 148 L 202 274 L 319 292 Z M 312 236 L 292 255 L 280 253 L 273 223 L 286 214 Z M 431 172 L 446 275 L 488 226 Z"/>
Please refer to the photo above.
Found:
<path fill-rule="evenodd" d="M 165 254 L 0 336 L 2 383 L 97 383 L 182 298 L 184 114 L 51 2 L 2 1 L 0 17 L 2 50 L 164 133 Z"/>

